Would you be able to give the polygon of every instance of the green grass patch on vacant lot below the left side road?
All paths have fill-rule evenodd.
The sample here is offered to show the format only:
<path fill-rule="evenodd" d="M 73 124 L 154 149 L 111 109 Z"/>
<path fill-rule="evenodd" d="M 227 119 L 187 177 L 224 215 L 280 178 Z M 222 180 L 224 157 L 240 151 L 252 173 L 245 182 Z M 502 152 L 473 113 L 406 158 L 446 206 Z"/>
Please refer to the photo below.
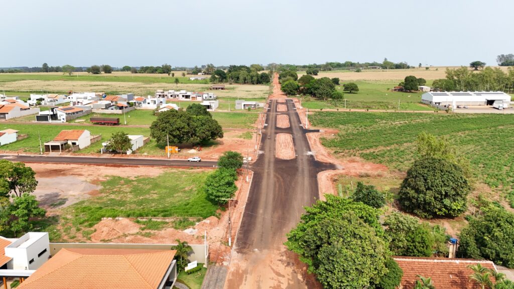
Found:
<path fill-rule="evenodd" d="M 218 209 L 201 189 L 209 173 L 198 169 L 171 169 L 157 177 L 112 176 L 100 183 L 99 195 L 63 208 L 58 227 L 67 239 L 75 239 L 80 231 L 87 238 L 91 233 L 88 228 L 102 218 L 208 218 L 216 215 Z M 141 225 L 143 229 L 162 227 L 160 222 L 143 221 Z"/>

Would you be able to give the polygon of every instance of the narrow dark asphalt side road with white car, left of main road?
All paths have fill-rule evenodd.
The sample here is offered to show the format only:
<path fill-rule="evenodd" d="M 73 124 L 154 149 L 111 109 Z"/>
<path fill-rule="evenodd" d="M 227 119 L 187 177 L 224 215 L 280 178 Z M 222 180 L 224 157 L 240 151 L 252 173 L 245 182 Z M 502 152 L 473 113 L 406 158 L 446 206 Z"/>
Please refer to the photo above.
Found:
<path fill-rule="evenodd" d="M 0 155 L 0 159 L 23 162 L 57 162 L 59 164 L 91 164 L 120 166 L 173 166 L 173 167 L 215 167 L 216 161 L 189 162 L 152 158 L 121 157 L 78 157 L 78 156 L 39 156 L 39 155 Z"/>

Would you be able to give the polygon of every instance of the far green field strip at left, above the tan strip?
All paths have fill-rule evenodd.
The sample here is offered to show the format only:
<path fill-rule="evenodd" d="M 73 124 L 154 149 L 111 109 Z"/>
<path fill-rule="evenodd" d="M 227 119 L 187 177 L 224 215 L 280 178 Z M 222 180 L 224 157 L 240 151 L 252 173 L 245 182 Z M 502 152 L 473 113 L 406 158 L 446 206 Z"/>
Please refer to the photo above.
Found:
<path fill-rule="evenodd" d="M 175 77 L 171 76 L 148 76 L 148 75 L 137 75 L 137 74 L 79 74 L 68 76 L 62 74 L 45 74 L 45 73 L 32 73 L 32 74 L 20 74 L 20 73 L 5 73 L 0 74 L 0 82 L 11 82 L 20 80 L 59 80 L 59 81 L 102 81 L 102 82 L 142 82 L 142 83 L 173 83 L 175 84 L 175 78 L 178 78 L 180 83 L 195 83 L 195 84 L 209 84 L 209 77 L 205 80 L 190 80 L 191 76 L 182 77 L 180 73 L 176 73 Z M 9 95 L 9 94 L 7 94 Z"/>

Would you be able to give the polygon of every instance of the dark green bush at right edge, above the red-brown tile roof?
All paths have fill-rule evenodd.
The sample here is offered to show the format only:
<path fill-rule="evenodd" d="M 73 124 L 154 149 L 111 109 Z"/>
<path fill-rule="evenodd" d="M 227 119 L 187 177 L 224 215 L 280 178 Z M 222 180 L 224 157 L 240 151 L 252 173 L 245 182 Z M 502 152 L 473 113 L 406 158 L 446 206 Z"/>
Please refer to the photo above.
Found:
<path fill-rule="evenodd" d="M 483 215 L 471 218 L 461 231 L 459 252 L 464 258 L 514 268 L 514 214 L 493 205 L 482 210 Z"/>

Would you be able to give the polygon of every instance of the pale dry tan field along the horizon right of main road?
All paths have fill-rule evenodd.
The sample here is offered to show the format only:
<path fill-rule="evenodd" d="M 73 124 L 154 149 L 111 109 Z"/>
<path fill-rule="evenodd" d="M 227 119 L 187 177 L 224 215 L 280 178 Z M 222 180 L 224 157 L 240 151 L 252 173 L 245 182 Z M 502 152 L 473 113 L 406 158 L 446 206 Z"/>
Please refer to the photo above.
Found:
<path fill-rule="evenodd" d="M 506 66 L 491 66 L 500 67 L 502 70 L 507 71 Z M 332 70 L 332 71 L 320 71 L 316 78 L 338 77 L 341 81 L 348 80 L 403 80 L 406 76 L 413 75 L 417 78 L 424 78 L 426 80 L 434 80 L 439 78 L 445 78 L 446 68 L 458 68 L 458 67 L 430 67 L 429 70 L 425 67 L 421 68 L 410 68 L 410 69 L 363 69 L 362 72 L 357 73 L 350 70 Z M 471 69 L 471 68 L 469 68 Z M 304 75 L 304 71 L 298 72 L 298 77 Z"/>

